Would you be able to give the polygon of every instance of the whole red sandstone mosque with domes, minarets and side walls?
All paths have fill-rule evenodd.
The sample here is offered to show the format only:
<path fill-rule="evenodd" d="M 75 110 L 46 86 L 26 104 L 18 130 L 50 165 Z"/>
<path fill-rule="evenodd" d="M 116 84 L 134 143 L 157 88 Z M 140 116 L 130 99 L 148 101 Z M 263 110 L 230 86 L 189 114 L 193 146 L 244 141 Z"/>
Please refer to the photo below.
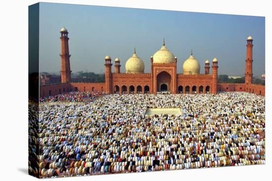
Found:
<path fill-rule="evenodd" d="M 70 91 L 104 91 L 106 94 L 157 94 L 167 92 L 171 94 L 217 94 L 221 91 L 245 91 L 265 96 L 265 86 L 252 84 L 252 48 L 253 39 L 247 38 L 245 60 L 245 83 L 218 83 L 218 63 L 214 58 L 203 64 L 205 73 L 200 74 L 200 64 L 191 52 L 182 65 L 183 72 L 177 72 L 178 58 L 167 49 L 163 40 L 162 47 L 150 57 L 151 71 L 144 72 L 144 63 L 138 57 L 136 49 L 127 60 L 126 72 L 120 72 L 121 61 L 105 57 L 105 82 L 85 83 L 71 82 L 70 54 L 68 45 L 68 31 L 65 27 L 60 30 L 61 40 L 61 83 L 40 85 L 40 96 L 56 95 Z"/>

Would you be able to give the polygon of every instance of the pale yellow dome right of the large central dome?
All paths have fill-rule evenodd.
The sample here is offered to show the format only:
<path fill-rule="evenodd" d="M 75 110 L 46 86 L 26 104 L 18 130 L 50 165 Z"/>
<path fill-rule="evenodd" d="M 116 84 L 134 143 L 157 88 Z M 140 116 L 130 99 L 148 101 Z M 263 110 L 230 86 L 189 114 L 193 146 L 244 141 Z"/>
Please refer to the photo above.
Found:
<path fill-rule="evenodd" d="M 200 72 L 200 65 L 192 54 L 183 63 L 182 68 L 183 68 L 183 74 L 199 74 Z"/>

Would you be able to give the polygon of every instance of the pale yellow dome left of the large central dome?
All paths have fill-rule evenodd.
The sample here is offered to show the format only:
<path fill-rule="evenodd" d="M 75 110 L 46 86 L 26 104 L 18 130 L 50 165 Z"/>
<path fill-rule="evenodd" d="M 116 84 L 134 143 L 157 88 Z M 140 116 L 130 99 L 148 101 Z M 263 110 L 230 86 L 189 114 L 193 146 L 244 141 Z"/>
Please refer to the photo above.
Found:
<path fill-rule="evenodd" d="M 144 64 L 142 60 L 136 55 L 136 51 L 126 62 L 126 72 L 127 73 L 143 73 Z"/>

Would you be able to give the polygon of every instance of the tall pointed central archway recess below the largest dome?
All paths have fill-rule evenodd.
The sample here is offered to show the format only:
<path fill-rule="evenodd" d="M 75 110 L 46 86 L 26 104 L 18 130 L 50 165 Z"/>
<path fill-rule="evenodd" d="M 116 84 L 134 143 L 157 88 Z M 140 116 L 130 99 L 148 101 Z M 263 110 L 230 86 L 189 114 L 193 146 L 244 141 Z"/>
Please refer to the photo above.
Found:
<path fill-rule="evenodd" d="M 157 75 L 157 91 L 170 91 L 171 90 L 171 75 L 168 72 L 160 72 Z"/>

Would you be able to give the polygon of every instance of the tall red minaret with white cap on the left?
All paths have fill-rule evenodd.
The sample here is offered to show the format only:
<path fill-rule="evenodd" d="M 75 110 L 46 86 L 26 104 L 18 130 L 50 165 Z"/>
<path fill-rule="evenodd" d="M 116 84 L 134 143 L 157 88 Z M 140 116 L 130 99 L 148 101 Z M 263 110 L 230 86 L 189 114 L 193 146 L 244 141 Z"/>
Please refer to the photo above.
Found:
<path fill-rule="evenodd" d="M 71 68 L 70 68 L 70 54 L 68 46 L 68 31 L 65 27 L 60 30 L 60 40 L 61 40 L 61 83 L 70 83 L 71 82 Z"/>

